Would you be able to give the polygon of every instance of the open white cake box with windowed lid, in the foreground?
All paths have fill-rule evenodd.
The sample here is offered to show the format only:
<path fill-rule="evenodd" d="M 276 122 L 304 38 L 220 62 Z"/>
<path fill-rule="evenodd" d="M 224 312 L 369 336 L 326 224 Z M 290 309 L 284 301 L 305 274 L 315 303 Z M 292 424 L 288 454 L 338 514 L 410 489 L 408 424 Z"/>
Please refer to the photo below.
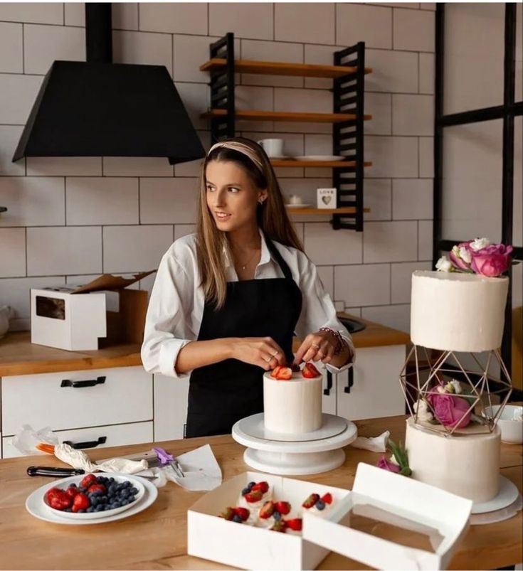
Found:
<path fill-rule="evenodd" d="M 332 509 L 322 516 L 303 514 L 301 537 L 217 517 L 237 505 L 249 481 L 262 480 L 273 486 L 277 500 L 293 508 L 310 493 L 329 491 Z M 470 500 L 369 464 L 358 464 L 352 491 L 249 471 L 189 509 L 187 552 L 242 569 L 315 569 L 330 551 L 378 569 L 445 569 L 467 530 L 471 508 Z M 293 509 L 286 518 L 295 516 Z M 380 537 L 381 530 L 391 535 Z M 401 538 L 414 538 L 415 544 L 405 545 Z"/>

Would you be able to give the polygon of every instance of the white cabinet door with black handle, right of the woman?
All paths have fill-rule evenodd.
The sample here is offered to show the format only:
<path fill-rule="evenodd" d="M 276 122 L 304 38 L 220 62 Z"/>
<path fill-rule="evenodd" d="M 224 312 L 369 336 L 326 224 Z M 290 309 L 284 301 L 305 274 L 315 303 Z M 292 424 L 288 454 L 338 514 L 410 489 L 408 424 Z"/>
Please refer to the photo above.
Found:
<path fill-rule="evenodd" d="M 337 414 L 348 420 L 403 415 L 399 374 L 405 358 L 404 345 L 356 349 L 349 393 L 350 369 L 337 375 Z"/>

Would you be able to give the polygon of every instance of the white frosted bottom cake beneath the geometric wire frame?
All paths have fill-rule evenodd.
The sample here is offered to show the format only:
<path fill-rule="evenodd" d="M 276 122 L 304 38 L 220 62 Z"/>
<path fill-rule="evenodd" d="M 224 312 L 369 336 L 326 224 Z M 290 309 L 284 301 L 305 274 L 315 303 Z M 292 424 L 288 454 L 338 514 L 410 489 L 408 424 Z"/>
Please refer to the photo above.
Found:
<path fill-rule="evenodd" d="M 501 431 L 445 437 L 407 420 L 405 447 L 414 479 L 482 503 L 499 491 Z"/>

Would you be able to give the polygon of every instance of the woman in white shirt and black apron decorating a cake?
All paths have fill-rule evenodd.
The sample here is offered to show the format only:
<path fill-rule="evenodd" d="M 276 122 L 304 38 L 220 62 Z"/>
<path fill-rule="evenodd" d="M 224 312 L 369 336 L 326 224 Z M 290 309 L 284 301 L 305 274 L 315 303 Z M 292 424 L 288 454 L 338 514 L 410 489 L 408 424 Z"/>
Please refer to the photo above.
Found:
<path fill-rule="evenodd" d="M 303 341 L 293 356 L 295 331 Z M 215 144 L 196 234 L 160 262 L 142 345 L 150 373 L 190 375 L 186 437 L 225 434 L 262 412 L 265 370 L 322 361 L 338 372 L 352 355 L 265 151 L 250 139 Z"/>

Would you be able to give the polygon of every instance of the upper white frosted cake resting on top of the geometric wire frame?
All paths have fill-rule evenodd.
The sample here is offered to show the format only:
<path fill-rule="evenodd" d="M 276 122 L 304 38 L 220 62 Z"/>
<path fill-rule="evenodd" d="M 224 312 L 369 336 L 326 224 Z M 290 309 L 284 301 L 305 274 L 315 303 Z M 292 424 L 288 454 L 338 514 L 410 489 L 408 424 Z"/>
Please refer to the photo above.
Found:
<path fill-rule="evenodd" d="M 413 272 L 411 339 L 442 351 L 491 351 L 501 346 L 507 277 Z"/>

